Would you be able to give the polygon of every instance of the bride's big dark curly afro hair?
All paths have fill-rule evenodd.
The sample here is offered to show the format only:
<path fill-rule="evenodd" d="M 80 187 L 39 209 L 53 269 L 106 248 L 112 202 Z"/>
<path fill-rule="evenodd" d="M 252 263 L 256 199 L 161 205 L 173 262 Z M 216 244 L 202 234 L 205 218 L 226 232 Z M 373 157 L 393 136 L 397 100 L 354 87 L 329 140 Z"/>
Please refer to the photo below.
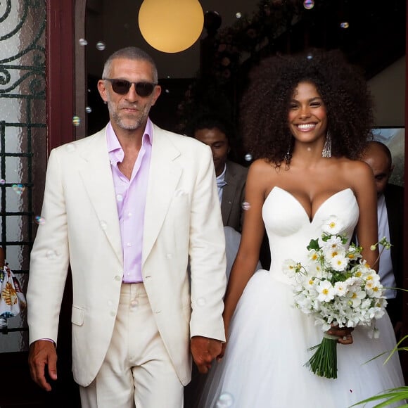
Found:
<path fill-rule="evenodd" d="M 288 108 L 299 82 L 312 82 L 324 101 L 332 155 L 359 158 L 371 139 L 373 105 L 361 70 L 337 50 L 270 56 L 250 71 L 241 99 L 244 143 L 253 158 L 280 165 L 293 136 Z"/>

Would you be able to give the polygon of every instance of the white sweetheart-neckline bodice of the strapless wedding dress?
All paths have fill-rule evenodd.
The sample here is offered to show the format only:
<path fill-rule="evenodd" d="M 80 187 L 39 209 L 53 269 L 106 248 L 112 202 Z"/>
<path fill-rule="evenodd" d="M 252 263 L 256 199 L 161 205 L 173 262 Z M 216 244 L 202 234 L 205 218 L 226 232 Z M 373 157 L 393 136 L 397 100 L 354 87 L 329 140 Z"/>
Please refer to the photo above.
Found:
<path fill-rule="evenodd" d="M 287 259 L 305 262 L 307 245 L 312 238 L 321 236 L 324 222 L 332 215 L 343 224 L 340 234 L 351 238 L 359 217 L 357 200 L 351 189 L 338 191 L 324 201 L 312 221 L 291 193 L 277 186 L 272 189 L 264 201 L 262 217 L 269 238 L 270 271 L 274 279 L 291 283 L 283 274 L 283 262 Z"/>

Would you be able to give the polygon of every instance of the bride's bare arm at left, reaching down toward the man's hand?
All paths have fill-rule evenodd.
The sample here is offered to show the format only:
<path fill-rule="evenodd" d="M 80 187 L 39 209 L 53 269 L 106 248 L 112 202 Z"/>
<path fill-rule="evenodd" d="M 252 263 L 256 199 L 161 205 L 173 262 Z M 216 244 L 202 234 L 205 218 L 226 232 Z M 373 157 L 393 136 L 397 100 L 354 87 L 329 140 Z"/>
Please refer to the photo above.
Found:
<path fill-rule="evenodd" d="M 267 166 L 267 167 L 266 167 Z M 224 298 L 224 325 L 228 333 L 231 320 L 239 298 L 250 277 L 255 272 L 260 255 L 260 246 L 264 236 L 262 205 L 265 198 L 265 167 L 271 167 L 258 160 L 251 165 L 246 180 L 246 212 L 243 217 L 241 243 L 231 269 L 227 292 Z"/>

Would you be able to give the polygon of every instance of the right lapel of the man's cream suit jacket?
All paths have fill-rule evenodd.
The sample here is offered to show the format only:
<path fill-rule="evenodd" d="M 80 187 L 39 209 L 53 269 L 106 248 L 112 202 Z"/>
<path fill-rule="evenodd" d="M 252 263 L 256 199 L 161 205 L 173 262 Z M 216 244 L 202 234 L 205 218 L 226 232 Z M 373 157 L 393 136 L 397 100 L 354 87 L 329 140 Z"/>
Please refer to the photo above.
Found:
<path fill-rule="evenodd" d="M 177 188 L 181 176 L 181 167 L 177 165 L 176 160 L 179 155 L 179 150 L 172 144 L 166 132 L 153 125 L 151 167 L 144 215 L 142 264 L 153 248 Z"/>

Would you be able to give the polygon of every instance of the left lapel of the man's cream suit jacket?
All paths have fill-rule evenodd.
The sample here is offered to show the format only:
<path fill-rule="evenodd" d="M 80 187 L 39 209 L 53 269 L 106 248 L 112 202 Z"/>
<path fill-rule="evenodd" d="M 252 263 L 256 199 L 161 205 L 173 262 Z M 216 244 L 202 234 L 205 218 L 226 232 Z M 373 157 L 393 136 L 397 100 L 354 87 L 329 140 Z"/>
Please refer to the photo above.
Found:
<path fill-rule="evenodd" d="M 82 151 L 86 163 L 79 173 L 91 205 L 98 216 L 101 229 L 106 234 L 118 260 L 123 263 L 119 217 L 106 144 L 106 130 L 103 129 L 92 137 L 94 139 L 90 140 L 87 149 Z"/>

